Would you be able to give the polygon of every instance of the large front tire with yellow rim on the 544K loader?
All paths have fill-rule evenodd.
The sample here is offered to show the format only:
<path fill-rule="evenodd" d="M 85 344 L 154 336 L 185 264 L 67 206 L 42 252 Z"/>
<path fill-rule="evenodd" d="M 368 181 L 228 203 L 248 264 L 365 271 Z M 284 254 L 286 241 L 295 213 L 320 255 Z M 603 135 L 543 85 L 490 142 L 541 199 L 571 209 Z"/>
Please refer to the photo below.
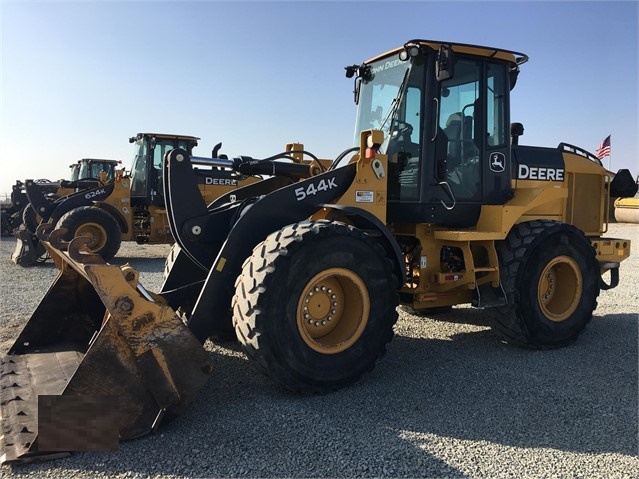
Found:
<path fill-rule="evenodd" d="M 305 221 L 255 247 L 236 282 L 233 323 L 259 369 L 290 390 L 326 392 L 375 367 L 398 304 L 379 244 L 342 223 Z"/>

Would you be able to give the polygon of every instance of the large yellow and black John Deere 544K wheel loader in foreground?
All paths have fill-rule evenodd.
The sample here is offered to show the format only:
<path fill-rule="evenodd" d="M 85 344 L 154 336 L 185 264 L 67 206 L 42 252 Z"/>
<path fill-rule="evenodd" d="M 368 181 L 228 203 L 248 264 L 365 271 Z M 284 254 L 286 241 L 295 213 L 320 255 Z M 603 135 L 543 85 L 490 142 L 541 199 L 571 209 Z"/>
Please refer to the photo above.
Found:
<path fill-rule="evenodd" d="M 398 305 L 469 304 L 525 347 L 575 341 L 600 291 L 617 285 L 630 242 L 603 236 L 610 184 L 594 155 L 519 145 L 510 91 L 526 60 L 411 40 L 347 67 L 356 146 L 328 167 L 279 161 L 290 151 L 258 160 L 172 149 L 163 185 L 179 248 L 157 294 L 132 268 L 88 253 L 86 237 L 67 242 L 40 225 L 60 273 L 3 359 L 2 460 L 52 452 L 38 442 L 51 429 L 34 425 L 38 396 L 111 401 L 120 439 L 153 430 L 206 381 L 201 344 L 228 323 L 257 368 L 303 393 L 371 371 Z M 195 166 L 270 177 L 207 204 Z M 187 324 L 174 314 L 185 304 Z"/>

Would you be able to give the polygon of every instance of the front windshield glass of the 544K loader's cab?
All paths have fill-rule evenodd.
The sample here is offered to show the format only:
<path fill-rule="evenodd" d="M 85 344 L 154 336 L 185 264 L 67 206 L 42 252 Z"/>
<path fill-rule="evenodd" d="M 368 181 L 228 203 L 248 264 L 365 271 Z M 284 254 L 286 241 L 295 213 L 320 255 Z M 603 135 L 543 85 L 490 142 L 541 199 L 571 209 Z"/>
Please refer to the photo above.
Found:
<path fill-rule="evenodd" d="M 386 153 L 391 136 L 397 136 L 400 130 L 403 130 L 403 141 L 418 143 L 422 69 L 411 68 L 411 62 L 396 57 L 378 60 L 369 67 L 370 75 L 363 78 L 360 85 L 355 146 L 360 132 L 368 129 L 384 132 L 386 141 L 380 149 L 382 153 Z"/>

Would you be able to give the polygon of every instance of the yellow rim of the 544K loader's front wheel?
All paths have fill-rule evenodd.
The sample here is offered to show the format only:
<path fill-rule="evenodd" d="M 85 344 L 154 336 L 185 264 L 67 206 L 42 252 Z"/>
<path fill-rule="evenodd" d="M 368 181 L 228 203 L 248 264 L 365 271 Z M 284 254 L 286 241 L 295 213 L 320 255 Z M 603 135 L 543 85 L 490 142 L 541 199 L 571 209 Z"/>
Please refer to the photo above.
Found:
<path fill-rule="evenodd" d="M 366 328 L 370 298 L 362 279 L 331 268 L 315 275 L 297 304 L 297 327 L 304 342 L 323 354 L 350 348 Z"/>

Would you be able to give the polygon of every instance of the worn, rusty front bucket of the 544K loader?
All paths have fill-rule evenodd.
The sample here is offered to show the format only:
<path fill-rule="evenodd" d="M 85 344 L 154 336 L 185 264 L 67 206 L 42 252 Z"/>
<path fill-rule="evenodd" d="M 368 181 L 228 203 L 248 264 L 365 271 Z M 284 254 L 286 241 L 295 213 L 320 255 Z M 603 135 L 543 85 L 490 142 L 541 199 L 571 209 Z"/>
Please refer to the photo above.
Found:
<path fill-rule="evenodd" d="M 37 234 L 59 273 L 1 360 L 0 463 L 117 448 L 181 414 L 212 371 L 210 355 L 136 270 L 47 229 Z"/>

